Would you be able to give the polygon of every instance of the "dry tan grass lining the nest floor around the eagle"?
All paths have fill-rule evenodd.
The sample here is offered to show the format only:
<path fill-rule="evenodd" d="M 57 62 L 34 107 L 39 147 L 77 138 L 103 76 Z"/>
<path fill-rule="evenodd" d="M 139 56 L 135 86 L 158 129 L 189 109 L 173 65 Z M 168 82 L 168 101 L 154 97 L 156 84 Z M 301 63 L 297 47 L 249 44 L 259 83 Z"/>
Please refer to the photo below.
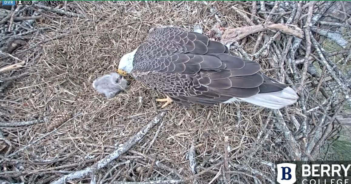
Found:
<path fill-rule="evenodd" d="M 206 32 L 217 23 L 209 11 L 210 8 L 216 8 L 223 15 L 219 18 L 227 26 L 247 26 L 247 22 L 230 8 L 233 5 L 241 4 L 228 1 L 211 2 L 211 5 L 193 1 L 69 1 L 67 6 L 76 13 L 84 14 L 85 18 L 62 16 L 38 20 L 37 28 L 47 30 L 43 34 L 33 35 L 29 44 L 20 50 L 45 39 L 62 34 L 65 36 L 48 41 L 21 55 L 20 59 L 28 60 L 27 65 L 15 72 L 30 74 L 5 91 L 1 111 L 5 122 L 44 117 L 49 121 L 23 128 L 2 128 L 2 131 L 11 141 L 12 149 L 18 150 L 60 127 L 38 141 L 38 144 L 19 151 L 14 156 L 16 161 L 6 162 L 2 166 L 13 173 L 0 177 L 16 182 L 22 180 L 28 183 L 49 183 L 71 171 L 86 168 L 112 152 L 115 146 L 124 143 L 155 116 L 155 109 L 159 109 L 161 104 L 155 103 L 154 99 L 163 96 L 129 79 L 130 86 L 126 92 L 106 100 L 92 88 L 93 80 L 113 72 L 120 57 L 139 45 L 146 38 L 148 30 L 154 26 L 177 25 L 185 30 L 192 30 L 196 23 L 200 23 Z M 247 40 L 243 45 L 244 49 L 251 53 L 255 42 L 253 39 Z M 266 63 L 270 59 L 271 56 L 268 56 L 259 61 L 264 71 L 270 69 Z M 5 64 L 13 62 L 11 58 L 4 60 Z M 266 74 L 277 76 L 278 70 L 269 70 Z M 145 149 L 154 138 L 157 127 L 148 132 L 144 141 L 132 148 L 134 152 L 126 155 L 137 155 L 137 151 L 139 155 L 152 156 L 153 159 L 176 169 L 180 175 L 191 177 L 185 155 L 192 140 L 195 140 L 197 163 L 207 168 L 223 160 L 226 149 L 224 139 L 227 137 L 230 165 L 248 166 L 274 178 L 272 168 L 263 163 L 290 159 L 285 153 L 284 138 L 274 129 L 276 118 L 268 117 L 267 109 L 247 103 L 239 105 L 241 117 L 238 122 L 236 104 L 221 104 L 211 108 L 193 105 L 190 109 L 172 104 L 167 107 L 169 110 L 164 118 L 165 122 L 152 147 Z M 287 120 L 290 115 L 303 117 L 295 107 L 289 107 L 282 112 Z M 137 114 L 140 115 L 133 116 Z M 78 116 L 67 122 L 74 115 Z M 272 118 L 273 121 L 269 121 L 267 128 L 264 128 L 267 118 Z M 296 131 L 291 123 L 288 126 Z M 261 136 L 258 139 L 259 134 Z M 0 150 L 7 149 L 6 144 L 0 144 Z M 65 159 L 55 161 L 59 158 Z M 128 157 L 122 157 L 116 163 L 125 159 L 128 160 Z M 112 170 L 111 175 L 101 182 L 144 181 L 147 177 L 155 180 L 162 179 L 161 176 L 176 178 L 168 175 L 169 171 L 156 166 L 151 175 L 148 175 L 153 159 L 133 159 L 131 163 Z M 48 164 L 48 160 L 53 162 Z M 98 181 L 116 163 L 100 170 L 96 174 Z M 218 169 L 219 167 L 201 175 L 198 182 L 208 183 L 216 176 Z M 230 169 L 252 174 L 251 171 L 235 166 Z M 254 181 L 242 173 L 230 175 L 232 182 Z M 258 177 L 261 181 L 268 182 L 264 177 Z M 223 177 L 220 176 L 215 179 L 215 183 L 222 180 Z M 90 178 L 85 178 L 71 183 L 89 182 Z"/>

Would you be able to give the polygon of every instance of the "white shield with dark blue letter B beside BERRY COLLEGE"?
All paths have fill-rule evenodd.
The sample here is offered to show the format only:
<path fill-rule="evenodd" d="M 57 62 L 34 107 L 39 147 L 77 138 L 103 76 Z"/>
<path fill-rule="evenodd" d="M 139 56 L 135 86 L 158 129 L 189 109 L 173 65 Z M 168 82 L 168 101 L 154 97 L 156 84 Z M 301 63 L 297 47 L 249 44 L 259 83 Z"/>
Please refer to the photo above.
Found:
<path fill-rule="evenodd" d="M 296 164 L 277 164 L 277 182 L 280 184 L 293 184 L 296 182 Z"/>

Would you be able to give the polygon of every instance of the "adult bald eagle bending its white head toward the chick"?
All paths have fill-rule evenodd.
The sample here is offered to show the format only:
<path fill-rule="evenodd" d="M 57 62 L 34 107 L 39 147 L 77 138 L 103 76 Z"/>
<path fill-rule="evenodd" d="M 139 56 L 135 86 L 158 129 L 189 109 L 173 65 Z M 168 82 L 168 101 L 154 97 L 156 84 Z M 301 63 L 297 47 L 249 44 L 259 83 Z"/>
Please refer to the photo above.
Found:
<path fill-rule="evenodd" d="M 118 73 L 131 74 L 172 101 L 190 106 L 243 100 L 270 109 L 297 101 L 286 84 L 265 76 L 254 61 L 244 60 L 220 42 L 175 27 L 155 28 L 133 52 L 122 56 Z"/>

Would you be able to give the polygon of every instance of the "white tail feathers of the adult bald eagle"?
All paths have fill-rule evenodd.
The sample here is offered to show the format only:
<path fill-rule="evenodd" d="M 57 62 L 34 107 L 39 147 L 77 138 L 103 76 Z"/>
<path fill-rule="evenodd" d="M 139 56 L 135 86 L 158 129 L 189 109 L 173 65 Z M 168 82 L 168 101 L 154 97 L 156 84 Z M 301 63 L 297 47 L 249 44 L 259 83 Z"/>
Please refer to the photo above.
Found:
<path fill-rule="evenodd" d="M 299 96 L 292 88 L 286 87 L 279 92 L 260 93 L 251 97 L 238 99 L 265 108 L 280 109 L 282 107 L 295 103 L 298 98 Z"/>

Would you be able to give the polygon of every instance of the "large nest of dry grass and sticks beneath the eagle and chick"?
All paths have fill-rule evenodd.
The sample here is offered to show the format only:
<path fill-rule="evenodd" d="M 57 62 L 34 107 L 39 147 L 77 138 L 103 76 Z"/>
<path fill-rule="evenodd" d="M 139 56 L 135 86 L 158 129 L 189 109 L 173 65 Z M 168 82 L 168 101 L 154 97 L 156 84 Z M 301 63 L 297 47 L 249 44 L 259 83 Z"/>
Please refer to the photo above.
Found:
<path fill-rule="evenodd" d="M 323 159 L 321 148 L 350 121 L 350 12 L 332 11 L 347 3 L 1 6 L 1 181 L 274 183 L 277 160 Z M 133 79 L 113 99 L 97 94 L 93 80 L 113 72 L 158 25 L 202 27 L 230 42 L 296 89 L 298 103 L 274 111 L 247 103 L 160 110 L 154 99 L 164 96 Z"/>

